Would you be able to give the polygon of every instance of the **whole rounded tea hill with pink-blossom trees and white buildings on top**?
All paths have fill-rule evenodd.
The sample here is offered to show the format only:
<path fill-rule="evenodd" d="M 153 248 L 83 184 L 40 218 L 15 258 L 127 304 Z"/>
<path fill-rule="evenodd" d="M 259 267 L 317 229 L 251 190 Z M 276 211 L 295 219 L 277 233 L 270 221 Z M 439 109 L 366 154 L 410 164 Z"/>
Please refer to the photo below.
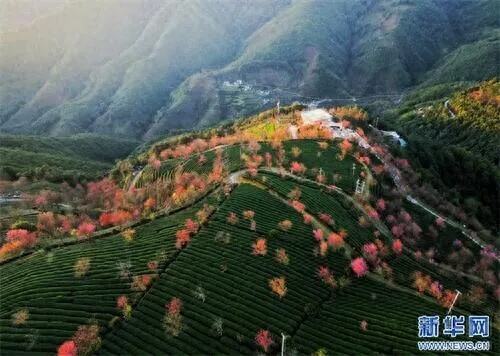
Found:
<path fill-rule="evenodd" d="M 492 246 L 410 196 L 366 112 L 302 109 L 144 146 L 65 191 L 71 213 L 35 197 L 0 249 L 1 350 L 414 353 L 456 289 L 496 350 Z"/>

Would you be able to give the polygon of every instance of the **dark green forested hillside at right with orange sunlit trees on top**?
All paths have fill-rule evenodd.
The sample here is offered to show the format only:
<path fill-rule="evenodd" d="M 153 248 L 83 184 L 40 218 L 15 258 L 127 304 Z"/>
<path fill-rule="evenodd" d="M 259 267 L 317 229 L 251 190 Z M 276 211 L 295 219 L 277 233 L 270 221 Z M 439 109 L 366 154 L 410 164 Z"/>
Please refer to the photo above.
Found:
<path fill-rule="evenodd" d="M 409 157 L 422 182 L 446 192 L 449 201 L 498 232 L 500 83 L 494 79 L 437 96 L 410 103 L 387 123 L 407 137 Z M 432 191 L 426 196 L 445 204 L 435 201 Z"/>

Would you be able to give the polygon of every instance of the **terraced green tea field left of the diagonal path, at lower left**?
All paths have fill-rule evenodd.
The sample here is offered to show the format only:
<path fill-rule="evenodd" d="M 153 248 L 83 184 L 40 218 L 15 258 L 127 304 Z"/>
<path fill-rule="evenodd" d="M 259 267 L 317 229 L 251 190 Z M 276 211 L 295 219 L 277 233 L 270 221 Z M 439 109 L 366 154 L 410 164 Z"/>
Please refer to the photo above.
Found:
<path fill-rule="evenodd" d="M 197 208 L 138 227 L 131 242 L 114 235 L 35 252 L 0 266 L 2 352 L 53 353 L 91 319 L 106 332 L 110 321 L 120 315 L 116 298 L 131 294 L 129 278 L 121 278 L 120 273 L 149 274 L 149 261 L 161 261 L 160 266 L 170 263 L 177 255 L 175 232 Z M 90 259 L 90 269 L 77 278 L 74 265 L 81 258 Z M 29 320 L 13 326 L 11 315 L 24 308 L 29 310 Z"/>

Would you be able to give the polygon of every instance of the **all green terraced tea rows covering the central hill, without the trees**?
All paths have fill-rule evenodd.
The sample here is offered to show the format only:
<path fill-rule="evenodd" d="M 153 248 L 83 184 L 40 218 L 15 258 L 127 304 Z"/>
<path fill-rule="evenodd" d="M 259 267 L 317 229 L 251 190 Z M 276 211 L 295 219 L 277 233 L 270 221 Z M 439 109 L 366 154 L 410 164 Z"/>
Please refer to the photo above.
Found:
<path fill-rule="evenodd" d="M 274 152 L 262 146 L 261 153 Z M 112 235 L 2 264 L 2 353 L 53 354 L 80 325 L 92 322 L 100 327 L 99 354 L 255 354 L 262 352 L 255 342 L 259 330 L 269 330 L 273 336 L 268 354 L 279 353 L 282 333 L 290 353 L 415 353 L 418 316 L 444 315 L 446 308 L 416 293 L 410 275 L 421 271 L 452 290 L 466 288 L 471 281 L 418 259 L 409 250 L 388 258 L 394 271 L 391 281 L 375 273 L 356 278 L 351 258 L 375 240 L 377 228 L 360 225 L 365 213 L 349 195 L 354 159 L 336 159 L 334 145 L 318 156 L 318 143 L 312 140 L 287 142 L 285 149 L 297 146 L 308 168 L 340 172 L 343 178 L 328 184 L 335 183 L 343 192 L 316 184 L 312 173 L 306 173 L 312 179 L 306 180 L 281 177 L 264 168 L 254 177 L 245 176 L 226 194 L 218 189 L 193 206 L 139 224 L 131 241 Z M 227 171 L 242 169 L 239 146 L 225 147 L 223 157 Z M 207 174 L 215 152 L 207 152 L 205 158 L 200 163 L 195 155 L 183 162 L 182 169 Z M 143 172 L 144 180 L 138 184 L 172 174 L 177 164 L 178 160 L 163 162 L 156 176 Z M 300 190 L 306 213 L 314 217 L 312 223 L 291 206 L 294 189 Z M 196 220 L 204 204 L 215 210 L 192 241 L 177 249 L 177 232 L 186 219 Z M 322 213 L 333 221 L 320 223 Z M 347 231 L 346 247 L 318 254 L 313 237 L 318 227 Z M 388 245 L 393 240 L 390 234 L 379 238 Z M 259 245 L 262 240 L 265 243 Z M 280 259 L 280 253 L 286 259 Z M 88 271 L 78 277 L 75 263 L 85 258 Z M 148 266 L 151 261 L 158 263 L 154 270 Z M 321 280 L 320 267 L 332 271 L 336 288 Z M 134 289 L 134 277 L 144 275 L 152 277 L 151 283 Z M 284 280 L 281 294 L 271 288 L 275 278 Z M 120 296 L 130 301 L 130 316 L 124 317 L 117 307 Z M 172 298 L 182 301 L 178 335 L 165 329 L 166 305 Z M 488 300 L 478 311 L 491 315 L 496 306 Z M 12 315 L 19 310 L 27 310 L 29 318 L 15 325 Z M 497 337 L 498 330 L 492 328 L 492 334 Z"/>

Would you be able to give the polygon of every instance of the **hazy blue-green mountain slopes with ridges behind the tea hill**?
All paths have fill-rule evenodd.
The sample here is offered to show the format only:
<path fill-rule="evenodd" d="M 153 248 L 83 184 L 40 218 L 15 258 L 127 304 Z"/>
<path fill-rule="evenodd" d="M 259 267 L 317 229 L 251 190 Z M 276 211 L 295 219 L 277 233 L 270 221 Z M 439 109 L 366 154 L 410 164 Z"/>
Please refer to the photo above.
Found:
<path fill-rule="evenodd" d="M 398 100 L 415 85 L 498 71 L 494 0 L 76 0 L 54 9 L 0 36 L 4 132 L 148 139 L 278 98 Z"/>

